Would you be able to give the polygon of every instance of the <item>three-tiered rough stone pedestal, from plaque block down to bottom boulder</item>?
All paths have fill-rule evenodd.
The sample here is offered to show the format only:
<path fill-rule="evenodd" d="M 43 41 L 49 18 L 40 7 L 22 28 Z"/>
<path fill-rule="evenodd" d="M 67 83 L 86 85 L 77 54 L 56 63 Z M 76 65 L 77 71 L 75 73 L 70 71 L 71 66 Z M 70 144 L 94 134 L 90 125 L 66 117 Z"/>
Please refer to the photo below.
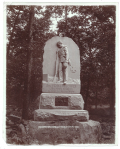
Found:
<path fill-rule="evenodd" d="M 100 143 L 100 123 L 83 108 L 81 94 L 42 93 L 28 132 L 39 144 Z"/>

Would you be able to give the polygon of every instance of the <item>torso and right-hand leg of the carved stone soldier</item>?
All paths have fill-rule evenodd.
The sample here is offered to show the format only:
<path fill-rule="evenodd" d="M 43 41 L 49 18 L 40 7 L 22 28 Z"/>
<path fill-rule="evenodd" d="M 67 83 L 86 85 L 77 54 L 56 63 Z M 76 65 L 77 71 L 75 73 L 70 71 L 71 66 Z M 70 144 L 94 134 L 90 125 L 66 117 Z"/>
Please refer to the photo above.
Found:
<path fill-rule="evenodd" d="M 58 51 L 59 62 L 62 64 L 63 82 L 67 81 L 68 49 L 62 46 Z"/>

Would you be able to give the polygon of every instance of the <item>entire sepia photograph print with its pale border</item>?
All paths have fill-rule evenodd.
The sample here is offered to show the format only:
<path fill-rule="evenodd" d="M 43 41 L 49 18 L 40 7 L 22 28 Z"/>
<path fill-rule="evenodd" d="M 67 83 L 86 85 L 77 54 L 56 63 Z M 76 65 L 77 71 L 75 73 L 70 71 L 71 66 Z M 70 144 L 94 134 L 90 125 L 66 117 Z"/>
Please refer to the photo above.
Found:
<path fill-rule="evenodd" d="M 5 3 L 6 144 L 118 143 L 117 9 Z"/>

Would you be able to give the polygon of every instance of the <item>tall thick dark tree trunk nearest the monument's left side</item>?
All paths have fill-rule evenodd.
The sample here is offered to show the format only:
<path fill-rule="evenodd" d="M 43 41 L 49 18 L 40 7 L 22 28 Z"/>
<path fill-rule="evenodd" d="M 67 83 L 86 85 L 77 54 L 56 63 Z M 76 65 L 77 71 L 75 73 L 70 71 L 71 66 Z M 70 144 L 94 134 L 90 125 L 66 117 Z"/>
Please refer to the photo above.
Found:
<path fill-rule="evenodd" d="M 29 101 L 30 101 L 30 80 L 31 80 L 31 69 L 32 69 L 32 51 L 30 49 L 31 45 L 31 36 L 32 36 L 32 24 L 33 24 L 33 17 L 34 17 L 34 7 L 31 6 L 30 15 L 29 15 L 29 40 L 28 40 L 28 50 L 27 50 L 27 74 L 26 80 L 24 84 L 25 88 L 25 99 L 23 100 L 23 111 L 22 111 L 22 118 L 28 120 L 28 109 L 29 109 Z"/>

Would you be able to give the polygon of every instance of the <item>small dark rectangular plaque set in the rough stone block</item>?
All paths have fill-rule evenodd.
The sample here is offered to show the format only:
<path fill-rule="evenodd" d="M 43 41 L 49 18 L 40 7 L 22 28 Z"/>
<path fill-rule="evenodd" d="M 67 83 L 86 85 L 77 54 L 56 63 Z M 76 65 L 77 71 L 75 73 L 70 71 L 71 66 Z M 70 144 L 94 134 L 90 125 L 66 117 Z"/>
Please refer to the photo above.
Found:
<path fill-rule="evenodd" d="M 68 106 L 67 97 L 55 97 L 55 106 Z"/>

